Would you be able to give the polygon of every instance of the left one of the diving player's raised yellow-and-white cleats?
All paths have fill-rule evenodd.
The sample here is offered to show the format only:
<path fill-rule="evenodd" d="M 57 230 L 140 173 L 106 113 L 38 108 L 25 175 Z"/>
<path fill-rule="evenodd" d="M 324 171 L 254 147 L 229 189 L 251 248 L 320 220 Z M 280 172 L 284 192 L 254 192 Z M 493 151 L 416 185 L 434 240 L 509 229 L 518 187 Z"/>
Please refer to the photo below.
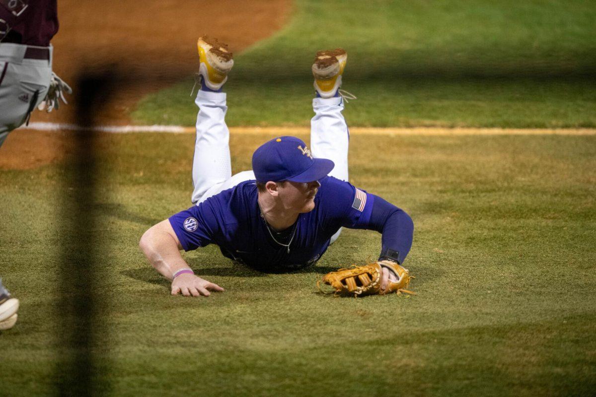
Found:
<path fill-rule="evenodd" d="M 198 38 L 197 48 L 200 61 L 198 74 L 209 89 L 214 91 L 221 89 L 228 80 L 229 71 L 234 66 L 228 45 L 220 43 L 218 39 L 203 36 Z"/>

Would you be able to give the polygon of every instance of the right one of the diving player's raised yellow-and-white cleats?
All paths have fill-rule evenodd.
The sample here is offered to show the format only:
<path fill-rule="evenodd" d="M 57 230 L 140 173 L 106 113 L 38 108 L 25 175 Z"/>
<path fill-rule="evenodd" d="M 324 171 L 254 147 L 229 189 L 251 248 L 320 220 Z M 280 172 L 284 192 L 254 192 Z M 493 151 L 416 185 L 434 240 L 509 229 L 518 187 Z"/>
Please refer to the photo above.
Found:
<path fill-rule="evenodd" d="M 346 68 L 347 52 L 343 48 L 318 51 L 312 64 L 315 90 L 321 98 L 333 98 L 342 86 L 342 74 Z"/>

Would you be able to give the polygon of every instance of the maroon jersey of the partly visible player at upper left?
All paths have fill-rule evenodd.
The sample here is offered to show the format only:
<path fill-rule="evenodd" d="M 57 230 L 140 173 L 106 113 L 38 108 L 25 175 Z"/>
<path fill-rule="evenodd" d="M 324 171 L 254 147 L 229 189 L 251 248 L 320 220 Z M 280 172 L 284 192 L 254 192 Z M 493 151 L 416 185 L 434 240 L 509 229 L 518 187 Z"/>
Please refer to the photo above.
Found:
<path fill-rule="evenodd" d="M 0 20 L 10 29 L 2 43 L 46 47 L 58 32 L 56 0 L 0 0 Z"/>

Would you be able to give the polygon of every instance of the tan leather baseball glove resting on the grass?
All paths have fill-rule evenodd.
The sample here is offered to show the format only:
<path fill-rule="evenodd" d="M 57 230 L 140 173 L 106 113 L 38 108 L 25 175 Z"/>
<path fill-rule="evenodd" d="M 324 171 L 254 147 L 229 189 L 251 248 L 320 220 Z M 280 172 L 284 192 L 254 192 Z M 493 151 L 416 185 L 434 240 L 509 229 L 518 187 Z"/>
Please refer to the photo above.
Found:
<path fill-rule="evenodd" d="M 383 267 L 393 272 L 396 281 L 389 281 L 387 288 L 381 291 L 381 274 Z M 414 276 L 409 275 L 409 271 L 401 265 L 392 261 L 377 261 L 371 262 L 364 266 L 354 266 L 351 268 L 342 268 L 337 271 L 325 274 L 322 280 L 316 282 L 316 286 L 323 293 L 335 293 L 336 295 L 345 296 L 364 296 L 364 295 L 384 295 L 390 292 L 409 293 L 415 295 L 414 292 L 405 289 L 408 287 L 410 279 Z M 334 291 L 325 292 L 321 289 L 321 282 L 333 287 Z"/>

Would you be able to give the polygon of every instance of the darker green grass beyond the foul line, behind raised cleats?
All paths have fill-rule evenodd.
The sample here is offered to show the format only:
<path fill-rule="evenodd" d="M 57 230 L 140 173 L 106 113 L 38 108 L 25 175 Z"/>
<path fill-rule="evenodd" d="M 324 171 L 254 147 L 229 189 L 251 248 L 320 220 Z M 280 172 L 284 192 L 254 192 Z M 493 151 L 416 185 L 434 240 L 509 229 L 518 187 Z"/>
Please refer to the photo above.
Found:
<path fill-rule="evenodd" d="M 595 127 L 594 20 L 582 0 L 297 0 L 285 29 L 235 57 L 228 123 L 308 124 L 315 52 L 343 46 L 352 126 Z M 192 126 L 192 86 L 147 96 L 135 122 Z"/>

